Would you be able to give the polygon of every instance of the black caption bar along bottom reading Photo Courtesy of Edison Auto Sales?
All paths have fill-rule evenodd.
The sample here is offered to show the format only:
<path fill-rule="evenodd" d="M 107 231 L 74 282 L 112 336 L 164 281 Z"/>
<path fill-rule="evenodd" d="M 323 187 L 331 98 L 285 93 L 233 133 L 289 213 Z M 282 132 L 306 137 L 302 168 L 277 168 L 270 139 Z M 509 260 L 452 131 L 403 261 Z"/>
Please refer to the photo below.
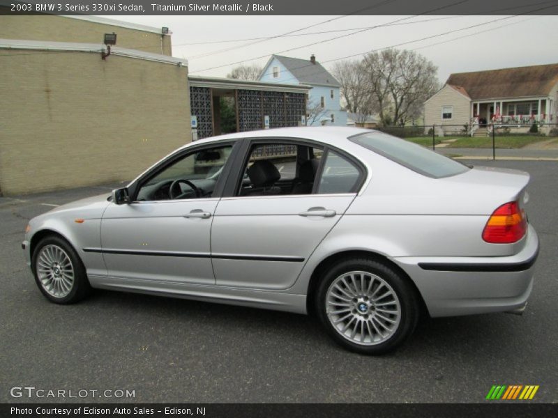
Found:
<path fill-rule="evenodd" d="M 527 403 L 529 401 L 487 401 L 487 403 L 460 404 L 253 404 L 253 403 L 188 403 L 188 404 L 6 404 L 0 407 L 0 416 L 27 418 L 513 418 L 556 417 L 558 404 Z"/>

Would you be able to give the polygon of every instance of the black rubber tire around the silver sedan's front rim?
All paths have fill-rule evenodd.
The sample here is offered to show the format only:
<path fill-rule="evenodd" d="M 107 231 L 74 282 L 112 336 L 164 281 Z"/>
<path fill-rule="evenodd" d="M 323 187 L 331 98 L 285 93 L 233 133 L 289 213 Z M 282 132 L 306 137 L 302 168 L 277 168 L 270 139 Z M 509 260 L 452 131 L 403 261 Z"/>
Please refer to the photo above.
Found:
<path fill-rule="evenodd" d="M 40 251 L 48 245 L 55 245 L 56 247 L 61 248 L 68 255 L 68 258 L 70 258 L 70 262 L 73 268 L 73 284 L 70 288 L 69 293 L 67 295 L 64 295 L 63 297 L 56 297 L 54 295 L 51 295 L 45 289 L 39 278 L 39 274 L 37 271 L 38 256 L 40 254 Z M 50 300 L 50 302 L 54 302 L 57 304 L 72 304 L 84 299 L 84 297 L 87 297 L 92 291 L 91 285 L 89 284 L 89 279 L 87 279 L 85 267 L 80 256 L 77 255 L 75 249 L 73 249 L 73 247 L 66 240 L 59 237 L 58 235 L 49 235 L 38 242 L 31 257 L 31 268 L 33 271 L 33 276 L 35 277 L 35 282 L 40 292 L 43 293 L 43 295 L 45 295 L 45 297 Z"/>

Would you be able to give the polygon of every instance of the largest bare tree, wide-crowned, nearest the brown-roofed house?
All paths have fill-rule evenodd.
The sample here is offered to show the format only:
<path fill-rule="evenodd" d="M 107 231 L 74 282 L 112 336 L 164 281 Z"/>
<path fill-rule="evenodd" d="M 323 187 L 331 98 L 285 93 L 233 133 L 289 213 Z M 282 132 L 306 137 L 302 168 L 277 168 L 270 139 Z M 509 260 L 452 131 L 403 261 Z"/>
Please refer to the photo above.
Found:
<path fill-rule="evenodd" d="M 405 125 L 418 118 L 439 86 L 437 67 L 416 52 L 385 49 L 366 55 L 363 64 L 382 125 Z"/>

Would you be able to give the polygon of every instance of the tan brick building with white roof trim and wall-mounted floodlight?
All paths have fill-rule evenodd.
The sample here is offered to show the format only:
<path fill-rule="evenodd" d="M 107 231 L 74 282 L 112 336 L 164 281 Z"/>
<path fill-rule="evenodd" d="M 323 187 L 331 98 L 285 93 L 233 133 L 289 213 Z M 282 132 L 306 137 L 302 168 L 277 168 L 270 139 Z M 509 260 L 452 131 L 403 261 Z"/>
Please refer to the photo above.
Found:
<path fill-rule="evenodd" d="M 189 142 L 187 64 L 161 29 L 0 15 L 0 192 L 131 180 Z"/>

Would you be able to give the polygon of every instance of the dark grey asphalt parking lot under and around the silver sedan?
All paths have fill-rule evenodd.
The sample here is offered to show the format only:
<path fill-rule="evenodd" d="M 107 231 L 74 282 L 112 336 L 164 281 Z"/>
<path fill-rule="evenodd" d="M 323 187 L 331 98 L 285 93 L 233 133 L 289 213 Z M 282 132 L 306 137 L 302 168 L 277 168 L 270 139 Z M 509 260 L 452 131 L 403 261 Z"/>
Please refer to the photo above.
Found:
<path fill-rule="evenodd" d="M 86 402 L 483 402 L 492 385 L 513 384 L 558 402 L 558 163 L 472 164 L 531 173 L 541 254 L 529 306 L 423 320 L 383 357 L 348 353 L 294 314 L 108 291 L 47 302 L 24 263 L 27 220 L 111 185 L 0 198 L 0 402 L 63 401 L 13 398 L 14 386 L 135 390 L 72 400 Z"/>

